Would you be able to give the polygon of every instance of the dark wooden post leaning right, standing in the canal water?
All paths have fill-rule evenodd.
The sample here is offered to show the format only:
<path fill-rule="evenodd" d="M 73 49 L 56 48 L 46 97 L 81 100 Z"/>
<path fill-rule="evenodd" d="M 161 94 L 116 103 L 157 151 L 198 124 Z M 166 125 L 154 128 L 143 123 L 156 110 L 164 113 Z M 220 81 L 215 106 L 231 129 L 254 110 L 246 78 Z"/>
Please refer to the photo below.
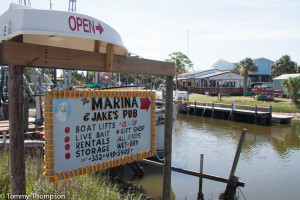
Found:
<path fill-rule="evenodd" d="M 226 186 L 226 190 L 223 194 L 221 194 L 221 199 L 224 200 L 233 200 L 234 199 L 234 195 L 236 192 L 236 188 L 237 188 L 237 183 L 239 181 L 238 177 L 234 176 L 235 174 L 235 170 L 239 161 L 239 157 L 242 151 L 242 147 L 244 144 L 244 140 L 245 140 L 245 136 L 246 136 L 246 132 L 247 129 L 243 129 L 241 137 L 240 137 L 240 141 L 235 153 L 235 157 L 234 157 L 234 161 L 232 164 L 232 168 L 231 168 L 231 172 L 230 172 L 230 176 L 229 176 L 229 183 Z"/>

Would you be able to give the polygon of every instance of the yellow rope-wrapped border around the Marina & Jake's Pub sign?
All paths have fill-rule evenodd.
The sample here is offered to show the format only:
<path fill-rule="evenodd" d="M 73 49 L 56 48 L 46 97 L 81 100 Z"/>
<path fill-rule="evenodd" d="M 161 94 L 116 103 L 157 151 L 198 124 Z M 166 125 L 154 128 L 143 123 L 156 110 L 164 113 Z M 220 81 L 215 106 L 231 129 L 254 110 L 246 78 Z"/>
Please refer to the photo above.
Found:
<path fill-rule="evenodd" d="M 155 92 L 147 90 L 51 90 L 45 92 L 44 106 L 44 166 L 45 172 L 43 175 L 50 182 L 57 182 L 58 180 L 65 180 L 69 178 L 78 177 L 97 171 L 102 171 L 125 165 L 134 161 L 142 160 L 152 157 L 156 149 L 156 111 L 155 111 Z M 68 169 L 65 171 L 55 172 L 55 143 L 54 143 L 54 99 L 83 99 L 83 98 L 113 98 L 113 97 L 147 97 L 150 98 L 150 148 L 149 151 L 128 154 L 127 156 L 110 159 L 108 161 L 97 162 L 91 165 L 84 165 L 83 167 Z"/>

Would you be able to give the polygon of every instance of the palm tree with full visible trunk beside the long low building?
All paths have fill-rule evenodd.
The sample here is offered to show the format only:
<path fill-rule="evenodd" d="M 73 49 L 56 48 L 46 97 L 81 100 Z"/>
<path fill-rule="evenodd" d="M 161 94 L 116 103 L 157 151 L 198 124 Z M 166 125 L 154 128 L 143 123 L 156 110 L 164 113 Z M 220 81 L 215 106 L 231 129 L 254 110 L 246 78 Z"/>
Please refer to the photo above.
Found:
<path fill-rule="evenodd" d="M 244 60 L 240 61 L 240 63 L 237 65 L 237 69 L 240 72 L 241 76 L 244 77 L 243 94 L 244 96 L 246 96 L 249 72 L 252 73 L 257 72 L 258 66 L 255 65 L 255 63 L 251 58 L 245 58 Z"/>

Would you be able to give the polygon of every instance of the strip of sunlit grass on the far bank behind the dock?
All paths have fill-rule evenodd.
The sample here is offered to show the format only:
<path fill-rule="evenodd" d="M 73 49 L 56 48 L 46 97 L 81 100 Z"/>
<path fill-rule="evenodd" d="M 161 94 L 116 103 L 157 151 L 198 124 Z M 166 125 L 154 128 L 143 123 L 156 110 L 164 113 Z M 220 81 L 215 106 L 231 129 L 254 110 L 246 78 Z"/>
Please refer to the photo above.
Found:
<path fill-rule="evenodd" d="M 288 112 L 295 113 L 300 112 L 300 104 L 292 103 L 291 99 L 278 98 L 275 97 L 274 101 L 258 101 L 253 97 L 244 97 L 244 96 L 231 96 L 231 97 L 222 97 L 222 100 L 219 101 L 217 96 L 207 96 L 201 94 L 190 94 L 189 101 L 199 101 L 199 102 L 209 102 L 209 103 L 224 103 L 232 104 L 233 100 L 236 100 L 236 105 L 243 106 L 259 106 L 259 107 L 270 107 L 274 112 Z"/>

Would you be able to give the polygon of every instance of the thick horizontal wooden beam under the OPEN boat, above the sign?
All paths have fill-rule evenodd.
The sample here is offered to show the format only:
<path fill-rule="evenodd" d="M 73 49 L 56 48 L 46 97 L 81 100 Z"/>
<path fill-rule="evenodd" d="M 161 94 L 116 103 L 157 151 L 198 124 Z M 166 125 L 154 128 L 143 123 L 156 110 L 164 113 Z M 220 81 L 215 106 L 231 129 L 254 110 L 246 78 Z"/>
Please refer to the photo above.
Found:
<path fill-rule="evenodd" d="M 12 41 L 2 41 L 1 46 L 0 65 L 161 76 L 175 75 L 174 63 L 114 55 L 112 68 L 105 70 L 106 54 L 103 53 Z"/>

